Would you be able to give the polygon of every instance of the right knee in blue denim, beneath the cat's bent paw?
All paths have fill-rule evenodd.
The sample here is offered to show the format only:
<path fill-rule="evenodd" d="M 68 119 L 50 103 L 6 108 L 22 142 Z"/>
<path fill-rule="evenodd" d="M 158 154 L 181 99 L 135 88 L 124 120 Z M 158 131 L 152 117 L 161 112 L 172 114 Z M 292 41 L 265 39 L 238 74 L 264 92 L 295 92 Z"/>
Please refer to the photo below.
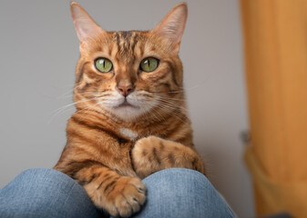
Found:
<path fill-rule="evenodd" d="M 234 217 L 209 180 L 189 169 L 173 168 L 143 180 L 148 199 L 138 218 Z"/>

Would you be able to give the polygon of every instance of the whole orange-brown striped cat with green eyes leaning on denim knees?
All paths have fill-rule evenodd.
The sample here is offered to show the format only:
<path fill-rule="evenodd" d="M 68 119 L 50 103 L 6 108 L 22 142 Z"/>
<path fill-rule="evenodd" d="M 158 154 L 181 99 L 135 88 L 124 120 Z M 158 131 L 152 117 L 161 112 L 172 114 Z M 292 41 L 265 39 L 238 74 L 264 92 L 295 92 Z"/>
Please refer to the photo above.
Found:
<path fill-rule="evenodd" d="M 146 201 L 141 179 L 181 167 L 205 173 L 192 143 L 179 45 L 188 7 L 150 31 L 107 32 L 77 3 L 80 41 L 67 144 L 54 169 L 81 184 L 98 208 L 129 216 Z"/>

